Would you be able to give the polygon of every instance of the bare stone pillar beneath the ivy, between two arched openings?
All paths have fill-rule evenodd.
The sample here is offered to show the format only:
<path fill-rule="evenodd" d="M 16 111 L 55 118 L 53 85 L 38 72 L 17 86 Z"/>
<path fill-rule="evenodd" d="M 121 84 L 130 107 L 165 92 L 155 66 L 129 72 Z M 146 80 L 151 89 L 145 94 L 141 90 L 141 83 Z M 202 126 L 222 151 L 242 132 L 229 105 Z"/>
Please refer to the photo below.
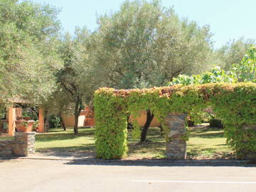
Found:
<path fill-rule="evenodd" d="M 186 114 L 171 113 L 165 119 L 169 127 L 166 142 L 167 159 L 186 158 Z"/>

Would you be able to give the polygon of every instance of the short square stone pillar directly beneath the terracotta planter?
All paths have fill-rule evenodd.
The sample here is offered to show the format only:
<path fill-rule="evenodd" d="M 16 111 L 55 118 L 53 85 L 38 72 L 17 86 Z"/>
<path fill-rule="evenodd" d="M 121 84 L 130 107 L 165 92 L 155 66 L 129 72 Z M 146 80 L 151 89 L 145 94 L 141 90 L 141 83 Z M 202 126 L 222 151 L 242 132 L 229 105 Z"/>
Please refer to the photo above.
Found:
<path fill-rule="evenodd" d="M 16 132 L 14 154 L 17 156 L 35 154 L 35 132 Z"/>

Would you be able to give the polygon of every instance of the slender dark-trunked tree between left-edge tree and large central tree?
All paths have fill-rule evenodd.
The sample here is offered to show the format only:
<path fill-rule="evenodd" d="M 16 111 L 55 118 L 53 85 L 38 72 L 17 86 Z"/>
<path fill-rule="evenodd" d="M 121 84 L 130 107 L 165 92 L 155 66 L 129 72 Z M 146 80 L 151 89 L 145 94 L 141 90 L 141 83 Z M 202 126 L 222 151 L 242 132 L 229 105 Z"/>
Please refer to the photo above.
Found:
<path fill-rule="evenodd" d="M 90 33 L 85 29 L 77 29 L 74 38 L 66 34 L 62 40 L 59 54 L 64 68 L 55 73 L 58 90 L 65 95 L 66 104 L 63 107 L 73 109 L 75 116 L 74 133 L 78 134 L 78 117 L 85 103 L 92 100 L 93 92 L 97 89 L 94 82 L 87 38 Z M 62 103 L 62 102 L 60 102 Z"/>

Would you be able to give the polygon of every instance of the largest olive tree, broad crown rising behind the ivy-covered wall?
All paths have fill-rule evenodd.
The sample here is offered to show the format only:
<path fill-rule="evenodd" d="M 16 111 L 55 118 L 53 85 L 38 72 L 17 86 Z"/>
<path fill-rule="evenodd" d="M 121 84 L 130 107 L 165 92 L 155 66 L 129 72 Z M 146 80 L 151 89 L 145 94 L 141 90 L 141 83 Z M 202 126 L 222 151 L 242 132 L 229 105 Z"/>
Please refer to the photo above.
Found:
<path fill-rule="evenodd" d="M 100 16 L 98 25 L 91 48 L 105 86 L 161 86 L 180 73 L 208 68 L 209 27 L 179 18 L 159 1 L 125 1 L 116 13 Z M 144 133 L 149 124 L 147 119 Z"/>

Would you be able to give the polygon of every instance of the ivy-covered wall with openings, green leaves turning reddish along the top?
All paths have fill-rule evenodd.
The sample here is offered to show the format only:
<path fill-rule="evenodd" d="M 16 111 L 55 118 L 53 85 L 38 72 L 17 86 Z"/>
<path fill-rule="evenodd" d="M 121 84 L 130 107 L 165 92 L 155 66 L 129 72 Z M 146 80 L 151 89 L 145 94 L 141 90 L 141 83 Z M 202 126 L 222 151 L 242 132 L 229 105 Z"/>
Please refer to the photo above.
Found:
<path fill-rule="evenodd" d="M 254 158 L 256 154 L 256 83 L 174 85 L 143 90 L 101 88 L 95 92 L 94 107 L 98 158 L 126 156 L 129 113 L 150 109 L 160 122 L 174 112 L 189 114 L 196 120 L 196 114 L 207 107 L 213 107 L 222 117 L 227 142 L 239 158 Z"/>

